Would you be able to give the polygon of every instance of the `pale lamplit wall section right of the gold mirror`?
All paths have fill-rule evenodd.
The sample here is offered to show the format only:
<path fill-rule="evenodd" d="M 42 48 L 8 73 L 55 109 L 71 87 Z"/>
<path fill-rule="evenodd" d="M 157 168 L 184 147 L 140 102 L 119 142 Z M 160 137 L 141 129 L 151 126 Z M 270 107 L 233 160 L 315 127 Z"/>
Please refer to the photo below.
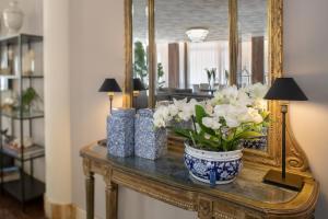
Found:
<path fill-rule="evenodd" d="M 291 107 L 293 131 L 320 183 L 316 218 L 328 217 L 328 1 L 285 3 L 284 70 L 294 77 L 309 101 Z"/>

